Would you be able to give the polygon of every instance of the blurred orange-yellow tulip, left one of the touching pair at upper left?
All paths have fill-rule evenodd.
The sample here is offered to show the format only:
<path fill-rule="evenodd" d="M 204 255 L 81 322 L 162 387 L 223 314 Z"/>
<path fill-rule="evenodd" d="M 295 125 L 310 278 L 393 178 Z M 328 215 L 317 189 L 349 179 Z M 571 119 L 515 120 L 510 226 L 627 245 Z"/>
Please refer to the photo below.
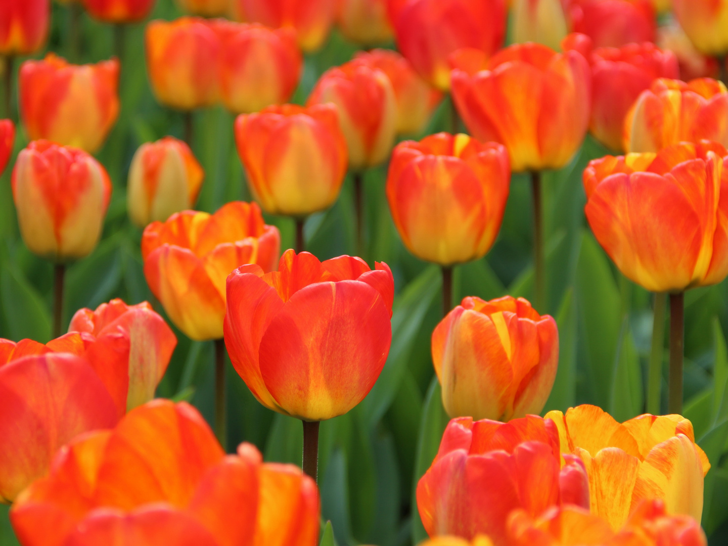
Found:
<path fill-rule="evenodd" d="M 149 82 L 160 103 L 193 110 L 218 100 L 221 44 L 205 20 L 151 21 L 145 41 Z"/>

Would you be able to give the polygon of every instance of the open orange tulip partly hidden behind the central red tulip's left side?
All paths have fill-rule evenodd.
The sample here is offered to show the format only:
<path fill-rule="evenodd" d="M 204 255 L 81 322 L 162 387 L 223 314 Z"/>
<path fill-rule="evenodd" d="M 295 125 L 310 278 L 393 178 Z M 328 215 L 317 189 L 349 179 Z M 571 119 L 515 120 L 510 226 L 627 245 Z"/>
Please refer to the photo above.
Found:
<path fill-rule="evenodd" d="M 154 222 L 141 241 L 144 276 L 170 320 L 191 339 L 221 339 L 225 280 L 242 264 L 274 269 L 280 233 L 255 203 L 232 202 L 215 214 L 183 210 Z"/>

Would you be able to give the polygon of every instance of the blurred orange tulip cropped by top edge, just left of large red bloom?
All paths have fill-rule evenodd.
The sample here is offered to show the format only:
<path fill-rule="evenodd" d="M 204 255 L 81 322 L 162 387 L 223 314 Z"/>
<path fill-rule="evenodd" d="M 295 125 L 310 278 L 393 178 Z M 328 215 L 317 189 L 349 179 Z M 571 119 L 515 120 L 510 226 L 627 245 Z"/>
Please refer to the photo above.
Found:
<path fill-rule="evenodd" d="M 347 39 L 363 46 L 386 43 L 394 36 L 387 0 L 337 0 L 336 22 Z"/>

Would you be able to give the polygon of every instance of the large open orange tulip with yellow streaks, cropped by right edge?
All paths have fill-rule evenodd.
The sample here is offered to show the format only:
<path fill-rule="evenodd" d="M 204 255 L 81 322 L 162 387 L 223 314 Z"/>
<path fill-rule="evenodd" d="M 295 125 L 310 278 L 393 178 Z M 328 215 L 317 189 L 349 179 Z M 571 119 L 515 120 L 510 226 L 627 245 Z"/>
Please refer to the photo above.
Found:
<path fill-rule="evenodd" d="M 728 274 L 728 152 L 681 143 L 607 156 L 584 171 L 589 225 L 628 279 L 653 292 L 713 285 Z M 722 181 L 721 181 L 722 172 Z"/>

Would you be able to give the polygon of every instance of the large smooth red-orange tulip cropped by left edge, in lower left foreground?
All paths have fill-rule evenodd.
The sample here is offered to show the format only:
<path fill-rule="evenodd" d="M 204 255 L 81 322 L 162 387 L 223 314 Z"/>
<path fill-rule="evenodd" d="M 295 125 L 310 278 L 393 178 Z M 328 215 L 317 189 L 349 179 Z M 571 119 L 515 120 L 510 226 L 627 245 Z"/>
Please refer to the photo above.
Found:
<path fill-rule="evenodd" d="M 23 347 L 17 350 L 12 341 L 0 339 L 3 502 L 14 501 L 46 474 L 64 443 L 88 430 L 113 427 L 117 419 L 114 400 L 85 360 L 71 354 L 30 354 L 34 356 L 24 356 Z"/>

